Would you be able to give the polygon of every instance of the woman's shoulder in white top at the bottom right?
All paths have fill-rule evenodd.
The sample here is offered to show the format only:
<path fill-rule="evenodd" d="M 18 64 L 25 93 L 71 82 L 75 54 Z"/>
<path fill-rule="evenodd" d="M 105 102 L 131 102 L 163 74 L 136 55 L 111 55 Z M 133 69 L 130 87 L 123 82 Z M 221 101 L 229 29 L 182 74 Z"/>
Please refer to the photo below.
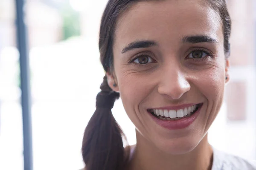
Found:
<path fill-rule="evenodd" d="M 247 161 L 239 156 L 213 149 L 212 170 L 256 170 L 256 161 Z"/>

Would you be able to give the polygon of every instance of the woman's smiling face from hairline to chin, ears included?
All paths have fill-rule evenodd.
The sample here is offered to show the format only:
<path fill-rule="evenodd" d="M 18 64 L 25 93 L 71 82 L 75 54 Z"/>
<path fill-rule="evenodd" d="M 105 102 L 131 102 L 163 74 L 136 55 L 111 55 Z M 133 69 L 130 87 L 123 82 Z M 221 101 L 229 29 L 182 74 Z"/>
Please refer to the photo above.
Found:
<path fill-rule="evenodd" d="M 167 153 L 193 150 L 223 100 L 228 60 L 218 14 L 203 0 L 138 2 L 119 17 L 113 54 L 108 81 L 140 136 Z"/>

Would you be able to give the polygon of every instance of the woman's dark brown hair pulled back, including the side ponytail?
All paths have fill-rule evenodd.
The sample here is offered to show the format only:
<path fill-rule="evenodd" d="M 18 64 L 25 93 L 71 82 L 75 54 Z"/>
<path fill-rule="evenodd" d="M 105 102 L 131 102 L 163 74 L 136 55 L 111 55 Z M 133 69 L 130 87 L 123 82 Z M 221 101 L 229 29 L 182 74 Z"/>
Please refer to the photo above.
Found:
<path fill-rule="evenodd" d="M 113 70 L 113 40 L 117 20 L 122 12 L 140 1 L 143 0 L 108 1 L 102 15 L 99 33 L 100 60 L 106 72 L 111 73 Z M 228 58 L 231 20 L 226 1 L 204 1 L 220 15 L 224 34 L 224 54 L 225 58 Z M 126 138 L 111 112 L 114 101 L 119 98 L 119 93 L 112 91 L 108 86 L 106 76 L 100 88 L 101 92 L 96 98 L 96 111 L 84 131 L 83 160 L 86 170 L 123 170 L 129 155 L 123 147 L 123 139 Z"/>

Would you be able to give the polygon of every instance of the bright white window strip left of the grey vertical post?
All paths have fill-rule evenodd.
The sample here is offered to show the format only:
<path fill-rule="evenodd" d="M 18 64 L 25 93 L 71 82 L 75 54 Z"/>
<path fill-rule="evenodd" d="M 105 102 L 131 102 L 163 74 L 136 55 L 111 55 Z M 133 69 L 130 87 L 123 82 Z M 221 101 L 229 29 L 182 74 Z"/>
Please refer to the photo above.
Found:
<path fill-rule="evenodd" d="M 0 169 L 23 170 L 15 1 L 1 0 L 0 11 Z"/>

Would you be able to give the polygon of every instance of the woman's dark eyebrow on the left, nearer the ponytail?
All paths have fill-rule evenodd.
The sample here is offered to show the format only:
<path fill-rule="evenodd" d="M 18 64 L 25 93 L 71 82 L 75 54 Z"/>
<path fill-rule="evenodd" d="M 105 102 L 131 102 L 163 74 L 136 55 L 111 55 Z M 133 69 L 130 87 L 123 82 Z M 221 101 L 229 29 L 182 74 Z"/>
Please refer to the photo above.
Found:
<path fill-rule="evenodd" d="M 152 40 L 134 41 L 122 49 L 122 54 L 127 51 L 134 50 L 136 48 L 148 48 L 151 46 L 157 46 L 157 42 L 152 41 Z"/>

